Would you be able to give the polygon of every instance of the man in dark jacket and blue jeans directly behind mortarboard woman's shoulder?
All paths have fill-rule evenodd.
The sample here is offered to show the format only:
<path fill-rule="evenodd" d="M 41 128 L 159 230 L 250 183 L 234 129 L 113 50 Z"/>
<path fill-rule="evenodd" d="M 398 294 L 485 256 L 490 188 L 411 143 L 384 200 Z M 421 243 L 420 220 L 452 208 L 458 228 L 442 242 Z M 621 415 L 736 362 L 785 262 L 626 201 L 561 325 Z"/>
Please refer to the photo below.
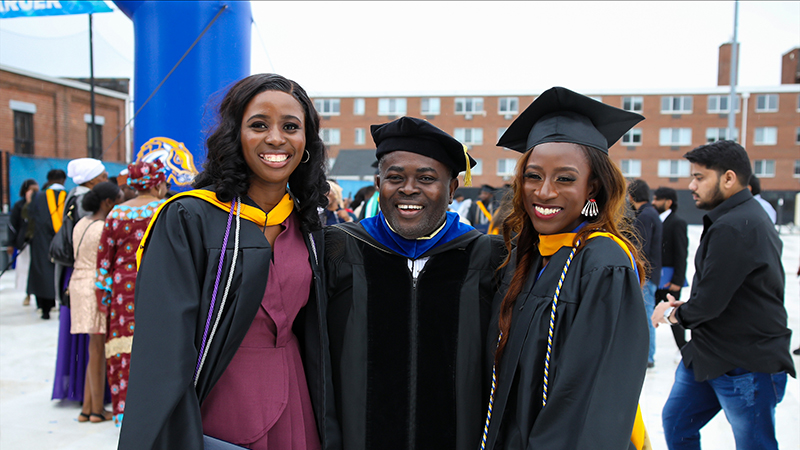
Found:
<path fill-rule="evenodd" d="M 650 186 L 644 180 L 633 180 L 628 185 L 628 200 L 636 211 L 636 218 L 633 221 L 638 234 L 642 253 L 647 258 L 650 271 L 647 274 L 647 281 L 642 288 L 644 296 L 644 307 L 647 315 L 653 314 L 656 306 L 656 289 L 661 281 L 661 219 L 653 205 L 650 204 Z M 650 352 L 647 355 L 647 367 L 655 366 L 656 355 L 656 329 L 650 321 Z"/>

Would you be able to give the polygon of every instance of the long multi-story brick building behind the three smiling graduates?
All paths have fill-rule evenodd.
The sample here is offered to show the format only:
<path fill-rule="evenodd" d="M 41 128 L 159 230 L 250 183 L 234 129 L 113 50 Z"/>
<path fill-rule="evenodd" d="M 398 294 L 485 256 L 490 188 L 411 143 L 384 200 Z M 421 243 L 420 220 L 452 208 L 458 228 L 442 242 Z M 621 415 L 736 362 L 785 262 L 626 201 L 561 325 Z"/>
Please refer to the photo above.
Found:
<path fill-rule="evenodd" d="M 728 138 L 731 44 L 720 47 L 718 86 L 705 89 L 654 88 L 639 91 L 583 92 L 603 103 L 635 111 L 645 120 L 611 147 L 609 155 L 630 179 L 655 188 L 686 191 L 689 163 L 683 155 L 709 142 Z M 747 149 L 763 196 L 792 211 L 800 190 L 800 48 L 783 55 L 781 84 L 737 87 L 736 130 L 732 138 Z M 569 86 L 566 86 L 569 87 Z M 491 93 L 451 96 L 316 97 L 321 135 L 330 149 L 332 178 L 371 181 L 369 152 L 372 124 L 414 116 L 452 134 L 478 161 L 473 184 L 501 186 L 510 181 L 519 153 L 495 146 L 500 135 L 538 93 Z M 348 155 L 350 150 L 361 150 Z M 346 172 L 335 161 L 347 161 Z M 352 157 L 349 157 L 352 156 Z M 366 157 L 365 157 L 366 156 Z M 360 164 L 354 165 L 353 159 Z M 358 166 L 358 167 L 356 167 Z M 462 180 L 463 181 L 463 180 Z M 463 184 L 463 183 L 462 183 Z M 688 193 L 684 192 L 688 199 Z M 789 209 L 791 207 L 791 209 Z M 785 214 L 791 221 L 791 214 Z"/>

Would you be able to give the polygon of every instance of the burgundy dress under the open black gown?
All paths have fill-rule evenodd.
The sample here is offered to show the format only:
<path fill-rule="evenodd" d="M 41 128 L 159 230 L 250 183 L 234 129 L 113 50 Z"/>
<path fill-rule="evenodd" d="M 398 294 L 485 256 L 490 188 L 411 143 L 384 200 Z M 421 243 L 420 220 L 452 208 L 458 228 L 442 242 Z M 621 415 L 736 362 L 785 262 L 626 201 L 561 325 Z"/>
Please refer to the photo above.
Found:
<path fill-rule="evenodd" d="M 275 239 L 261 308 L 208 394 L 203 433 L 250 449 L 320 448 L 292 323 L 308 302 L 308 250 L 292 213 Z"/>

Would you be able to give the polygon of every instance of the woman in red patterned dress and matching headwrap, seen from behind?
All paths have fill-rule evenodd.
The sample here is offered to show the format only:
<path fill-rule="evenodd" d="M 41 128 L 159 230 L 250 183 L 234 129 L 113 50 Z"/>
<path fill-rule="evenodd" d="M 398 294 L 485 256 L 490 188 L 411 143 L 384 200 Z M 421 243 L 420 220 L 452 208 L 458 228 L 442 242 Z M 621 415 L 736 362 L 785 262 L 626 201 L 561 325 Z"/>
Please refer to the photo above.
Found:
<path fill-rule="evenodd" d="M 160 160 L 128 166 L 128 185 L 138 196 L 111 210 L 97 253 L 97 301 L 106 313 L 106 361 L 114 423 L 125 412 L 131 342 L 134 330 L 133 293 L 136 287 L 136 249 L 150 218 L 164 202 L 167 181 Z"/>

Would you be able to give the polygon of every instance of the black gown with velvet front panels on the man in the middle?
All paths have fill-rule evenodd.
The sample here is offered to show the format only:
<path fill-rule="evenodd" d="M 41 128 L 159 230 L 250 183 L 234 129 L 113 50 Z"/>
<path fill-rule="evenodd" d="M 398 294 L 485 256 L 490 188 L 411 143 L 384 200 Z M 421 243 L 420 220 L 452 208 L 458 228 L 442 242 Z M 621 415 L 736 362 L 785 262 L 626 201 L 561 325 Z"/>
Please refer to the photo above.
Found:
<path fill-rule="evenodd" d="M 335 416 L 326 449 L 475 449 L 489 379 L 482 372 L 497 236 L 468 233 L 408 259 L 358 223 L 326 228 L 325 273 Z"/>

